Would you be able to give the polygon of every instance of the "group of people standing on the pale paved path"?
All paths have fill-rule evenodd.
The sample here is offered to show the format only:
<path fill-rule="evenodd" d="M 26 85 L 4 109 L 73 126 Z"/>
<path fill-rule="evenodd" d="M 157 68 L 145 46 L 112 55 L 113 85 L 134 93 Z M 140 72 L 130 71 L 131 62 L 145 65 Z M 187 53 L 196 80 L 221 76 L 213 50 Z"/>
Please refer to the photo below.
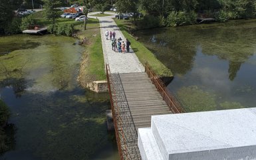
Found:
<path fill-rule="evenodd" d="M 116 33 L 114 31 L 110 31 L 110 33 L 106 31 L 105 36 L 107 40 L 108 36 L 110 37 L 112 50 L 114 50 L 115 52 L 130 52 L 131 42 L 128 39 L 126 39 L 126 42 L 124 42 L 124 40 L 122 41 L 121 37 L 119 39 L 116 39 Z"/>

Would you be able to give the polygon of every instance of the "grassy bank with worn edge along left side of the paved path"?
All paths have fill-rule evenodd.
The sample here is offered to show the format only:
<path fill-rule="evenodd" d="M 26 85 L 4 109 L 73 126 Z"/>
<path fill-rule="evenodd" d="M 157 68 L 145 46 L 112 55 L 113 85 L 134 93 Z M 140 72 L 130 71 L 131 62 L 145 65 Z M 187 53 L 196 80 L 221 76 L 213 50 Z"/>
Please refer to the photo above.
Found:
<path fill-rule="evenodd" d="M 78 81 L 85 88 L 87 82 L 106 80 L 106 75 L 98 19 L 89 19 L 86 31 L 83 31 L 82 27 L 82 23 L 80 23 L 74 29 L 77 31 L 78 39 L 85 39 L 86 41 L 86 44 L 84 44 L 86 49 L 82 54 L 78 76 Z"/>

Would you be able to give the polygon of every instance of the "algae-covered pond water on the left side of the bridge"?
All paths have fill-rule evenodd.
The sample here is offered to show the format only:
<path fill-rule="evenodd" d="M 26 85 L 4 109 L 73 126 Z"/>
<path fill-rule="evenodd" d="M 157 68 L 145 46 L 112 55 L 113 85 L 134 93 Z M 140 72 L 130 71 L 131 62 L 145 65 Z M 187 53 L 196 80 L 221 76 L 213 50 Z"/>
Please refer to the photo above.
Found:
<path fill-rule="evenodd" d="M 0 159 L 118 159 L 106 129 L 108 94 L 80 88 L 84 47 L 53 35 L 0 37 L 0 96 L 15 126 Z"/>

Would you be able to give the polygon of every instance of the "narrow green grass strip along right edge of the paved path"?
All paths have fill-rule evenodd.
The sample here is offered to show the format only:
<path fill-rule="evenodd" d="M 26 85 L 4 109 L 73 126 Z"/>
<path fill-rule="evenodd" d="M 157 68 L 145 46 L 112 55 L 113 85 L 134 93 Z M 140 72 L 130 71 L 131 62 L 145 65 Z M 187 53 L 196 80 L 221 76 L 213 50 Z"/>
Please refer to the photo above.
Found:
<path fill-rule="evenodd" d="M 141 42 L 137 41 L 135 37 L 133 37 L 132 35 L 130 35 L 130 33 L 128 33 L 128 27 L 132 27 L 131 23 L 125 20 L 118 20 L 118 19 L 114 19 L 114 21 L 116 21 L 116 24 L 124 34 L 124 37 L 129 39 L 130 42 L 132 43 L 132 49 L 134 50 L 134 52 L 136 53 L 136 55 L 138 56 L 142 64 L 145 64 L 146 62 L 148 62 L 150 66 L 152 66 L 156 74 L 158 74 L 158 76 L 161 76 L 161 77 L 174 76 L 172 74 L 172 71 L 169 70 L 166 66 L 164 66 L 164 64 L 162 64 L 162 62 L 160 62 L 156 58 L 156 56 L 150 50 L 148 50 L 148 48 L 146 48 L 146 46 L 144 46 Z"/>

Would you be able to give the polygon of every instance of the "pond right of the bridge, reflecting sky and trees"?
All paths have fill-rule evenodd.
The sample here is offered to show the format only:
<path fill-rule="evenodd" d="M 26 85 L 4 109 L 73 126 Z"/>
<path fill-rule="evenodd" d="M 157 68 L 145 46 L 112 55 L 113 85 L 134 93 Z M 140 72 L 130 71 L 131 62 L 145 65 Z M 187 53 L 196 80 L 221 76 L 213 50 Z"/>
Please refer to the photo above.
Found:
<path fill-rule="evenodd" d="M 138 31 L 188 112 L 256 107 L 256 20 Z"/>

